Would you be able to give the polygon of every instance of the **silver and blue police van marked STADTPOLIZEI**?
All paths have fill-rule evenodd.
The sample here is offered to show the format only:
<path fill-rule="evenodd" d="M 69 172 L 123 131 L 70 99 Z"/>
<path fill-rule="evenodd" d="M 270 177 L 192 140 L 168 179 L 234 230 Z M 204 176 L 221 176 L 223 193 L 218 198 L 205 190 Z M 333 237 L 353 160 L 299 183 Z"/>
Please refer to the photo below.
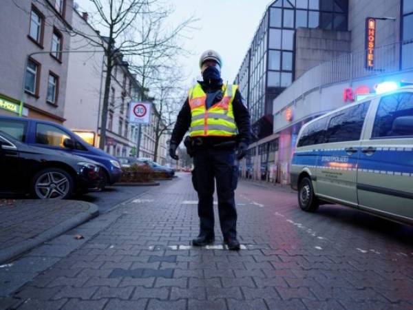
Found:
<path fill-rule="evenodd" d="M 290 180 L 304 211 L 339 203 L 413 224 L 413 87 L 306 123 L 297 137 Z"/>

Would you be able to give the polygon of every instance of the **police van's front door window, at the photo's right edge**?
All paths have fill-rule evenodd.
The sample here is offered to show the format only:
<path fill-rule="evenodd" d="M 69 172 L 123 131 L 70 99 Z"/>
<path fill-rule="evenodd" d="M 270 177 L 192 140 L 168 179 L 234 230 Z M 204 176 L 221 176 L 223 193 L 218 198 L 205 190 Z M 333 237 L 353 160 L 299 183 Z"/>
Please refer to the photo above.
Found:
<path fill-rule="evenodd" d="M 413 94 L 385 96 L 379 103 L 372 138 L 413 136 Z"/>

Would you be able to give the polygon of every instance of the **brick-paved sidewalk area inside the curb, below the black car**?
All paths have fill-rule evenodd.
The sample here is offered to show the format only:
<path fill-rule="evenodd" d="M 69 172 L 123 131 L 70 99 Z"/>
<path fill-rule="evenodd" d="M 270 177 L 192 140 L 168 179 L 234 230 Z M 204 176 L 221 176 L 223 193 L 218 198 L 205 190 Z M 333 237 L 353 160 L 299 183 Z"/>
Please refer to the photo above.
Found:
<path fill-rule="evenodd" d="M 87 211 L 76 200 L 9 200 L 0 203 L 0 249 L 28 240 Z"/>

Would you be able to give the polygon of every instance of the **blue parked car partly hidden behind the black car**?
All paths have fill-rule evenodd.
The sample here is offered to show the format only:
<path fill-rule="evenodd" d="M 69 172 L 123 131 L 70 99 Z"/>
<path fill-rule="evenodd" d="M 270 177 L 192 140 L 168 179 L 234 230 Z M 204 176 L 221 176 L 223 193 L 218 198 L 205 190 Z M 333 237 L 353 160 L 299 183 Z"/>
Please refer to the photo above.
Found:
<path fill-rule="evenodd" d="M 122 174 L 116 157 L 89 145 L 62 125 L 33 118 L 0 116 L 0 130 L 29 145 L 59 149 L 101 163 L 105 168 L 103 187 L 118 181 Z"/>

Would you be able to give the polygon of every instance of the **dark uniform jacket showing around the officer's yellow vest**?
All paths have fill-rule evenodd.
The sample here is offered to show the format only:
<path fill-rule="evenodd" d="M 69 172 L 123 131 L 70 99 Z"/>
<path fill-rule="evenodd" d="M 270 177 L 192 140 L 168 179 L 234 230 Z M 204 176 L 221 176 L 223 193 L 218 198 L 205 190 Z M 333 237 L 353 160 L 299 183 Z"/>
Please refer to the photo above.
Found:
<path fill-rule="evenodd" d="M 202 90 L 204 90 L 204 92 L 207 94 L 207 108 L 222 100 L 222 92 L 220 92 L 220 90 L 222 90 L 222 80 L 212 81 L 212 83 L 198 81 L 198 83 L 200 83 Z M 251 136 L 250 114 L 246 107 L 246 101 L 244 101 L 244 99 L 242 98 L 242 95 L 239 90 L 236 90 L 235 92 L 235 97 L 233 100 L 233 114 L 235 118 L 235 123 L 237 124 L 238 128 L 236 141 L 238 143 L 244 142 L 248 144 Z M 182 138 L 184 137 L 184 134 L 189 130 L 190 126 L 191 107 L 189 106 L 189 101 L 187 99 L 178 114 L 178 118 L 176 119 L 176 124 L 173 128 L 171 136 L 171 143 L 179 145 L 179 143 L 182 141 Z M 211 143 L 220 143 L 223 141 L 233 140 L 233 138 L 231 137 L 224 136 L 208 137 L 207 139 Z"/>

